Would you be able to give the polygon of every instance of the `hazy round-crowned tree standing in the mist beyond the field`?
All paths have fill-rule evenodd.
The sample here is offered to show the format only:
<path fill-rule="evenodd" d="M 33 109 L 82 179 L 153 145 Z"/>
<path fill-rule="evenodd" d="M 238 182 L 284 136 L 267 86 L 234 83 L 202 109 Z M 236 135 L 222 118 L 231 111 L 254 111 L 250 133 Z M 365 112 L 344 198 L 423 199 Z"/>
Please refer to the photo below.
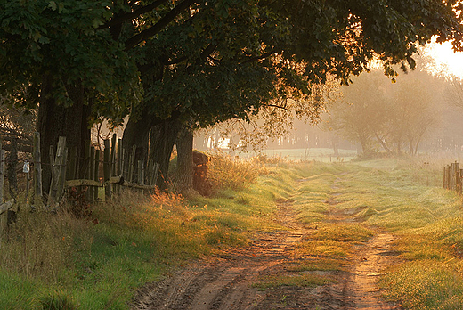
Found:
<path fill-rule="evenodd" d="M 361 143 L 364 153 L 375 151 L 379 144 L 392 154 L 395 144 L 395 152 L 401 154 L 404 143 L 409 143 L 409 153 L 414 155 L 437 123 L 436 97 L 443 87 L 438 77 L 424 70 L 403 75 L 394 84 L 381 76 L 376 70 L 344 87 L 343 102 L 332 107 L 329 123 L 346 138 Z"/>

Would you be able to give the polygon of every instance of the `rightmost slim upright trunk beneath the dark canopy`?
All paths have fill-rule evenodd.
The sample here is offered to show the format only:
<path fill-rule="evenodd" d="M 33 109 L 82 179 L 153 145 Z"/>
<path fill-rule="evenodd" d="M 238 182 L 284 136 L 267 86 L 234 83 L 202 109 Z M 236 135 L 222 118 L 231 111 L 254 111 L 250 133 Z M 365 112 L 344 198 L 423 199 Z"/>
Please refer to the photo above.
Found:
<path fill-rule="evenodd" d="M 182 126 L 175 142 L 177 146 L 177 172 L 175 188 L 178 192 L 193 189 L 193 129 Z"/>

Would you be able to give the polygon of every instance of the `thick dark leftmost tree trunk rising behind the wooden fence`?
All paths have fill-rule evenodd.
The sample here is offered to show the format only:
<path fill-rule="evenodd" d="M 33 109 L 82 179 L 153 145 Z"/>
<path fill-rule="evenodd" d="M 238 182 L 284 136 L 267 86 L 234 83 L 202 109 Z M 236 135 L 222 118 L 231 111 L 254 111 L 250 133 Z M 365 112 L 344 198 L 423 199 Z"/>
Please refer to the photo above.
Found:
<path fill-rule="evenodd" d="M 88 119 L 92 107 L 85 104 L 85 89 L 77 83 L 76 86 L 68 86 L 67 90 L 72 100 L 69 107 L 59 105 L 53 98 L 53 77 L 43 78 L 37 124 L 42 161 L 45 162 L 42 166 L 43 192 L 49 192 L 52 179 L 51 166 L 46 164 L 50 162 L 50 145 L 56 147 L 59 136 L 65 136 L 67 148 L 76 147 L 77 158 L 83 159 L 85 141 L 90 141 Z"/>

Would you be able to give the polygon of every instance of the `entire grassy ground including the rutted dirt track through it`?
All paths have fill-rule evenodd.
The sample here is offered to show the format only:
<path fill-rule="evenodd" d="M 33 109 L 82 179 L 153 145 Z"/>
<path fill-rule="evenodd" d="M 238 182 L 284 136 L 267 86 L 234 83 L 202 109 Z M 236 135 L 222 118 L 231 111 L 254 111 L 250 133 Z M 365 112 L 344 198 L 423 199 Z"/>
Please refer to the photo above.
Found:
<path fill-rule="evenodd" d="M 217 159 L 212 198 L 22 214 L 0 244 L 0 308 L 463 308 L 461 198 L 441 188 L 443 161 L 322 161 Z M 187 275 L 188 298 L 166 289 Z"/>

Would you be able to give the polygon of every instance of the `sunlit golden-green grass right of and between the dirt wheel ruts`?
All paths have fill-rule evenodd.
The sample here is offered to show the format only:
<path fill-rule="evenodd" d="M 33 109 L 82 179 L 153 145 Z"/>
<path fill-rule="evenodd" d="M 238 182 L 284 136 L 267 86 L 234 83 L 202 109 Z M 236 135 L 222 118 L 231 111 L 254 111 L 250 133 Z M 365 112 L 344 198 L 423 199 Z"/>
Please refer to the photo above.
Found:
<path fill-rule="evenodd" d="M 410 309 L 463 308 L 461 198 L 441 189 L 441 166 L 402 159 L 333 165 L 337 171 L 318 166 L 296 188 L 299 216 L 318 228 L 317 237 L 296 250 L 311 264 L 291 268 L 343 269 L 342 257 L 351 255 L 353 241 L 386 230 L 396 235 L 394 249 L 402 259 L 381 278 L 386 297 Z M 329 209 L 359 223 L 356 229 L 327 226 Z"/>

